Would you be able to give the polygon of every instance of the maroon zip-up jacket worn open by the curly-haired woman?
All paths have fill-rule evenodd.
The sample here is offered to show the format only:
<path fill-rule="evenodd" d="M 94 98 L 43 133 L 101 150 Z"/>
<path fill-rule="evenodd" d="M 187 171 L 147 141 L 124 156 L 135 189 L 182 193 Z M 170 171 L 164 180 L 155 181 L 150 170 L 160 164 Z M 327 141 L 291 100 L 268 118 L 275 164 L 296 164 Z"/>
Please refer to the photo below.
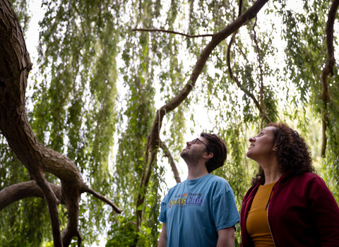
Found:
<path fill-rule="evenodd" d="M 242 202 L 242 246 L 254 246 L 246 231 L 246 218 L 257 184 Z M 267 215 L 275 247 L 339 246 L 339 208 L 320 176 L 304 173 L 280 177 L 268 200 Z"/>

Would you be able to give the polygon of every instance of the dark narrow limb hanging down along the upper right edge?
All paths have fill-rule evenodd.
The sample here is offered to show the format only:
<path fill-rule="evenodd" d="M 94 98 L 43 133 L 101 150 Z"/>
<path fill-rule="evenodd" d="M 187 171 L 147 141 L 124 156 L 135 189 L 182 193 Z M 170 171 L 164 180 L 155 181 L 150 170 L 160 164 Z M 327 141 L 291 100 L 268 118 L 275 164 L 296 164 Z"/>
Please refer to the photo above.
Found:
<path fill-rule="evenodd" d="M 321 143 L 321 157 L 325 157 L 326 152 L 326 128 L 327 128 L 327 104 L 329 101 L 328 96 L 328 74 L 331 73 L 333 76 L 333 66 L 335 64 L 334 58 L 334 47 L 333 47 L 333 31 L 334 31 L 334 21 L 335 13 L 338 11 L 339 0 L 333 0 L 331 4 L 330 11 L 328 12 L 328 20 L 326 24 L 326 44 L 327 44 L 327 61 L 326 65 L 323 68 L 321 73 L 321 96 L 320 99 L 323 100 L 324 108 L 321 109 L 321 125 L 323 132 L 323 142 Z"/>

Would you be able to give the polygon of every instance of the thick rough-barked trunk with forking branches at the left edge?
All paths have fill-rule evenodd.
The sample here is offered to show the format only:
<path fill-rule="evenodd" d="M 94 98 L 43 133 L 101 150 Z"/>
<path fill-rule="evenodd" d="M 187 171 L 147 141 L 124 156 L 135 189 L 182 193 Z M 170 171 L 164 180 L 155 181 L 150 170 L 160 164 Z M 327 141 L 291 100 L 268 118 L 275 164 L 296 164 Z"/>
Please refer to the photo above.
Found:
<path fill-rule="evenodd" d="M 85 185 L 78 167 L 69 157 L 44 147 L 37 140 L 25 113 L 25 90 L 31 69 L 32 63 L 16 14 L 7 0 L 0 0 L 0 129 L 11 150 L 34 180 L 0 191 L 0 210 L 28 196 L 43 196 L 49 210 L 54 246 L 69 246 L 73 236 L 78 237 L 78 246 L 81 246 L 78 231 L 81 193 L 91 191 L 106 203 L 109 200 Z M 61 187 L 47 182 L 44 172 L 57 176 Z M 23 194 L 23 189 L 26 194 Z M 67 227 L 62 239 L 59 203 L 64 203 L 68 210 Z M 110 205 L 114 203 L 110 202 Z M 114 210 L 122 211 L 117 206 Z"/>

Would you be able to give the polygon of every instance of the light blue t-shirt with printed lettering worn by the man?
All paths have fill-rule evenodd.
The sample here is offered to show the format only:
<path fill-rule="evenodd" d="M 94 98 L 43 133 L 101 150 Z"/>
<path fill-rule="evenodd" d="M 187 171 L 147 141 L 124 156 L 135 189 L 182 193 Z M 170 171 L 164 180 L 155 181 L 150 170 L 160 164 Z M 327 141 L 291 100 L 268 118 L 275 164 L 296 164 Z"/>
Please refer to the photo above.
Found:
<path fill-rule="evenodd" d="M 159 221 L 166 223 L 167 247 L 217 246 L 218 231 L 239 222 L 232 188 L 208 174 L 169 189 Z"/>

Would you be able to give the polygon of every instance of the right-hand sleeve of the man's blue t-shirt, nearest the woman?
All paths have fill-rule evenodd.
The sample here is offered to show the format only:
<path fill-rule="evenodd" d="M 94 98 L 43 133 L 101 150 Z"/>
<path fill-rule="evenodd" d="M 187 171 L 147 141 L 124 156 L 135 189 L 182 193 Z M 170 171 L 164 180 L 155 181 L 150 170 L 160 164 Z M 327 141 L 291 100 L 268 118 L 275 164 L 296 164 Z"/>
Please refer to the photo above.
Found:
<path fill-rule="evenodd" d="M 213 201 L 213 217 L 217 231 L 227 227 L 235 227 L 239 222 L 239 212 L 232 190 L 223 193 Z"/>

